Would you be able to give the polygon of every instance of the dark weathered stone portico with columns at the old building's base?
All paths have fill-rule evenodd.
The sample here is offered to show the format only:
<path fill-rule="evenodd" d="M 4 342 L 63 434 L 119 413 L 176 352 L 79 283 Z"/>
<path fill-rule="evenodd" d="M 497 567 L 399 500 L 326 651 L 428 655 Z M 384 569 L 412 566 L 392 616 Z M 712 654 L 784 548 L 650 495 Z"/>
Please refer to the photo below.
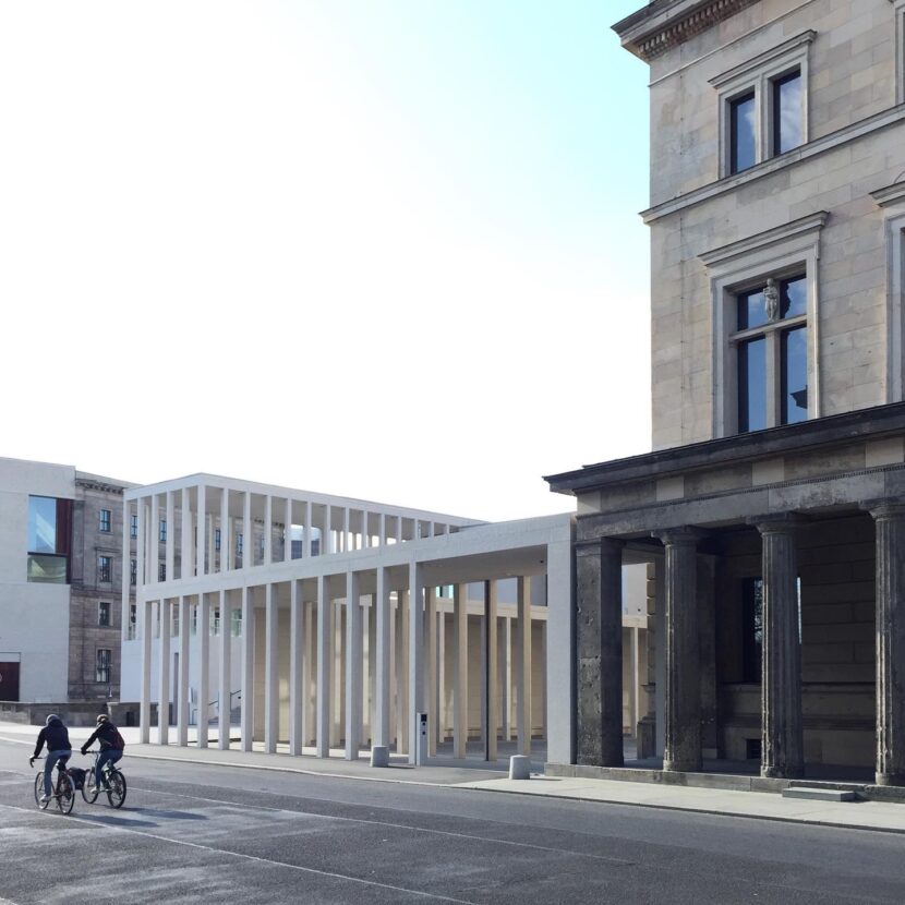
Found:
<path fill-rule="evenodd" d="M 623 763 L 623 652 L 600 626 L 622 565 L 647 562 L 641 757 L 667 772 L 757 758 L 764 777 L 862 768 L 903 784 L 903 450 L 896 403 L 548 478 L 579 508 L 577 763 Z"/>

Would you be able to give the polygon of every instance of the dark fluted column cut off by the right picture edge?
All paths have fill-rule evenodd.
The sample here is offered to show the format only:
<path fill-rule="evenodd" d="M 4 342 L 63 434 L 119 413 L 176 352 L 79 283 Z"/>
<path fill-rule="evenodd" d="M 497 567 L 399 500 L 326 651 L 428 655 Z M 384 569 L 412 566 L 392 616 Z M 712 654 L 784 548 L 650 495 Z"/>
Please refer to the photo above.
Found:
<path fill-rule="evenodd" d="M 877 785 L 905 785 L 905 504 L 871 509 L 877 527 Z"/>

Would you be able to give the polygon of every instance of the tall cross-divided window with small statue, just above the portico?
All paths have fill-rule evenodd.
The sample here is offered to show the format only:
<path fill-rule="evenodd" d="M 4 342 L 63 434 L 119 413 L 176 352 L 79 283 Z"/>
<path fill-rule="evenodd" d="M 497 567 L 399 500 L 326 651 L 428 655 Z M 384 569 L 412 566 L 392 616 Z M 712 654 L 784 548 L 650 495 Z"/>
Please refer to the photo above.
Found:
<path fill-rule="evenodd" d="M 807 279 L 768 279 L 736 295 L 738 431 L 808 417 Z"/>

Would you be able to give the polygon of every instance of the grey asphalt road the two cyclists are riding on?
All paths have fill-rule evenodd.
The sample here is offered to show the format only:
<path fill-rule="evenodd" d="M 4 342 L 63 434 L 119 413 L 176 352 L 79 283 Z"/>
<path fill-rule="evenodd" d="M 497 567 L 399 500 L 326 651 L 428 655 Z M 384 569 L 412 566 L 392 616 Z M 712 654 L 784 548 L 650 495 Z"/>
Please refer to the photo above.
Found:
<path fill-rule="evenodd" d="M 63 817 L 27 756 L 0 741 L 3 905 L 905 902 L 901 835 L 128 753 L 121 810 Z"/>

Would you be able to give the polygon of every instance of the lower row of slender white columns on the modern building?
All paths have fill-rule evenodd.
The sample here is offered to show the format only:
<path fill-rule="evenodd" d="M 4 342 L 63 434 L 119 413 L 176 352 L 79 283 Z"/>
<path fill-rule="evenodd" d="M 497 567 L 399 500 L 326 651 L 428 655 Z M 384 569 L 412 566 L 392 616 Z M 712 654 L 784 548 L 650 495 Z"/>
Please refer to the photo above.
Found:
<path fill-rule="evenodd" d="M 533 681 L 532 666 L 534 656 L 546 656 L 546 607 L 532 606 L 527 577 L 516 579 L 515 604 L 499 604 L 498 581 L 481 583 L 480 600 L 469 601 L 463 583 L 451 586 L 451 598 L 441 596 L 445 589 L 425 587 L 423 565 L 411 563 L 405 569 L 377 567 L 145 600 L 142 740 L 150 739 L 152 700 L 172 699 L 176 743 L 189 744 L 195 717 L 197 745 L 207 747 L 214 741 L 207 703 L 216 698 L 216 744 L 229 748 L 231 702 L 238 690 L 232 676 L 238 672 L 242 750 L 260 743 L 273 753 L 286 743 L 291 755 L 313 748 L 317 757 L 329 757 L 341 744 L 345 757 L 355 759 L 370 743 L 405 751 L 414 762 L 417 719 L 426 713 L 427 757 L 436 757 L 438 745 L 451 739 L 451 757 L 466 758 L 469 738 L 478 731 L 488 760 L 496 760 L 499 739 L 512 737 L 519 752 L 530 753 L 532 735 L 544 733 L 546 724 L 546 689 Z M 219 613 L 219 635 L 212 636 L 213 610 Z M 241 613 L 238 671 L 232 663 L 234 611 Z M 179 661 L 171 688 L 177 614 Z M 207 668 L 212 643 L 217 644 L 219 664 L 213 681 Z M 170 741 L 169 723 L 162 703 L 160 744 Z"/>

